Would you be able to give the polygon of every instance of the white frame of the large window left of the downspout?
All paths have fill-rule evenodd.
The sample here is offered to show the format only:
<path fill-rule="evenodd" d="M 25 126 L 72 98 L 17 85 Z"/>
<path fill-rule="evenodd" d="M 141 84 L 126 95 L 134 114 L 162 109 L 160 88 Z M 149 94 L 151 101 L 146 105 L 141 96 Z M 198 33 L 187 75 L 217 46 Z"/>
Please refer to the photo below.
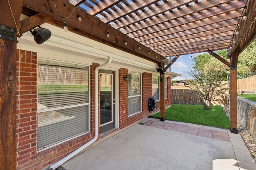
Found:
<path fill-rule="evenodd" d="M 78 64 L 78 63 L 70 63 L 68 61 L 67 61 L 67 63 L 65 63 L 65 62 L 61 62 L 61 61 L 55 61 L 55 60 L 49 60 L 49 59 L 41 59 L 41 58 L 37 59 L 37 63 L 38 63 L 38 61 L 45 62 L 45 63 L 56 63 L 56 64 L 61 64 L 63 66 L 65 66 L 65 65 L 66 66 L 70 66 L 70 67 L 73 66 L 74 68 L 76 68 L 77 64 Z M 91 122 L 90 122 L 90 120 L 91 120 L 91 114 L 90 114 L 90 112 L 91 112 L 91 110 L 90 110 L 90 108 L 91 108 L 90 107 L 90 100 L 91 100 L 90 99 L 90 96 L 91 96 L 91 89 L 90 89 L 90 66 L 86 65 L 86 64 L 80 64 L 80 63 L 78 65 L 80 65 L 80 66 L 88 66 L 88 103 L 86 103 L 86 104 L 76 104 L 76 105 L 71 105 L 71 106 L 54 107 L 54 108 L 42 109 L 42 110 L 37 110 L 37 107 L 36 107 L 36 153 L 42 152 L 43 150 L 49 149 L 49 148 L 54 147 L 56 145 L 60 145 L 61 143 L 64 143 L 66 141 L 70 141 L 72 139 L 75 139 L 75 138 L 77 138 L 79 136 L 82 136 L 82 135 L 85 135 L 85 134 L 91 132 L 91 128 L 90 128 L 90 124 L 91 124 Z M 37 92 L 38 87 L 37 86 L 38 86 L 38 84 L 36 84 L 36 102 L 38 102 L 38 92 Z M 37 137 L 37 135 L 38 135 L 38 119 L 37 119 L 37 116 L 38 115 L 37 114 L 45 112 L 45 111 L 67 109 L 67 108 L 79 107 L 79 106 L 88 106 L 88 132 L 76 135 L 76 136 L 71 137 L 69 139 L 66 139 L 64 141 L 60 141 L 60 142 L 58 142 L 56 144 L 53 144 L 53 145 L 50 145 L 48 147 L 45 147 L 43 149 L 38 150 L 38 145 L 37 145 L 38 144 L 38 137 Z"/>

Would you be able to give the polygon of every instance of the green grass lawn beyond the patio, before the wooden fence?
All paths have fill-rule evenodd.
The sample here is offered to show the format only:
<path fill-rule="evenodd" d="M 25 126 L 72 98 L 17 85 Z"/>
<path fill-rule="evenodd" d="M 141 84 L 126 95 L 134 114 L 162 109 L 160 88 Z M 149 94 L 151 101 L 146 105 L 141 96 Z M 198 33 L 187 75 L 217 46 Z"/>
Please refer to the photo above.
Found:
<path fill-rule="evenodd" d="M 160 112 L 151 116 L 160 118 Z M 204 110 L 203 106 L 198 105 L 172 104 L 172 107 L 165 110 L 165 119 L 230 129 L 230 119 L 221 106 L 211 106 L 210 110 Z"/>

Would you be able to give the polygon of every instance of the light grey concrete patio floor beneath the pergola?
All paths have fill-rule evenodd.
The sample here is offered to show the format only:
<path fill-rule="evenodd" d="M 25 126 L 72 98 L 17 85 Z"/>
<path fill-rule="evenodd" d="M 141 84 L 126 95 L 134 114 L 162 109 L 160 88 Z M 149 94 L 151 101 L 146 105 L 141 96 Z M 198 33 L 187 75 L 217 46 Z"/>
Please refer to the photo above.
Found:
<path fill-rule="evenodd" d="M 155 121 L 155 122 L 152 122 Z M 256 164 L 240 135 L 224 129 L 165 121 L 164 123 L 211 129 L 209 135 L 172 131 L 145 119 L 64 163 L 66 170 L 256 170 Z M 150 125 L 149 122 L 151 122 Z M 173 126 L 173 127 L 174 127 Z M 184 126 L 180 126 L 184 127 Z M 212 129 L 213 128 L 213 129 Z M 197 129 L 197 134 L 202 130 Z M 186 130 L 186 127 L 184 127 Z M 215 131 L 222 139 L 213 139 Z M 192 129 L 194 131 L 194 129 Z M 206 132 L 206 131 L 204 131 Z M 203 136 L 203 137 L 202 137 Z"/>

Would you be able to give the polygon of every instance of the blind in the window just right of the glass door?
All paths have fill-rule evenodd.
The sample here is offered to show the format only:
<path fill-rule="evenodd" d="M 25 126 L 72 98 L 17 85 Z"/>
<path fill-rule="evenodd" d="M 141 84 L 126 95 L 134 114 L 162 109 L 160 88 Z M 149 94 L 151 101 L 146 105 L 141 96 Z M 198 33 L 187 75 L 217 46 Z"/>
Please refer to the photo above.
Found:
<path fill-rule="evenodd" d="M 128 115 L 141 111 L 141 74 L 128 72 Z"/>

